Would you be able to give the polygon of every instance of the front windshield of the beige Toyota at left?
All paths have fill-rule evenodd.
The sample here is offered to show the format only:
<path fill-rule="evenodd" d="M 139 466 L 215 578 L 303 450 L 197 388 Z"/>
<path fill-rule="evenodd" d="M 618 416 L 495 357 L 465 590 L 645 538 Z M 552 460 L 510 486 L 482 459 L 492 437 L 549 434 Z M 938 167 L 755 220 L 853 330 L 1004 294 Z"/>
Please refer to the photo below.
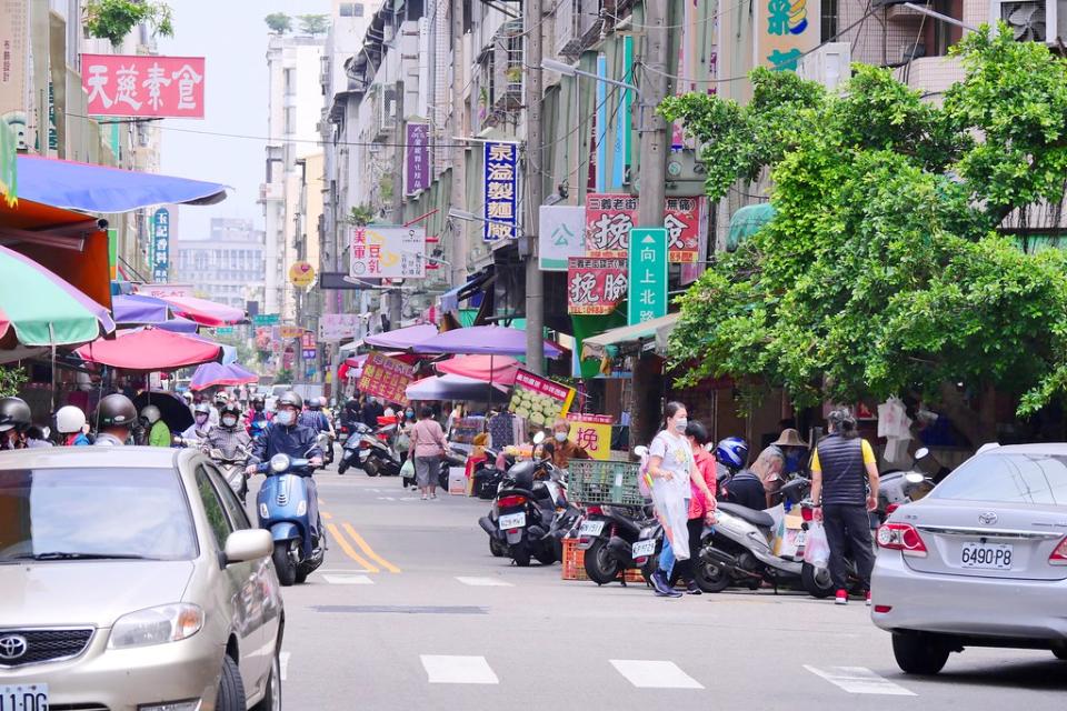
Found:
<path fill-rule="evenodd" d="M 196 555 L 171 469 L 0 470 L 0 563 Z"/>

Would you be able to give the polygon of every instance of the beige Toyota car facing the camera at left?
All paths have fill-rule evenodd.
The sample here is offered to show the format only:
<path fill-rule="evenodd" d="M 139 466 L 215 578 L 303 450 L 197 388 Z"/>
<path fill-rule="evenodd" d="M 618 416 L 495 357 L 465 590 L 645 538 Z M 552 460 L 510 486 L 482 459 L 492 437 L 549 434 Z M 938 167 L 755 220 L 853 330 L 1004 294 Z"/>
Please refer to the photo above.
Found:
<path fill-rule="evenodd" d="M 0 707 L 280 709 L 271 550 L 195 450 L 0 452 Z"/>

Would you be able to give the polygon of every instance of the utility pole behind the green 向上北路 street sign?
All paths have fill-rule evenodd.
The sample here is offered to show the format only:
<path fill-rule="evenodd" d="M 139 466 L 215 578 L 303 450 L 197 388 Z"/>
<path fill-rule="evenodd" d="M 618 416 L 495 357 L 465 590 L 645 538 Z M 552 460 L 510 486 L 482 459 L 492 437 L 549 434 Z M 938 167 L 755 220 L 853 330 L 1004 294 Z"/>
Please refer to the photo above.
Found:
<path fill-rule="evenodd" d="M 656 108 L 667 97 L 667 3 L 645 1 L 645 57 L 641 60 L 640 184 L 638 227 L 664 227 L 667 180 L 667 122 Z M 630 443 L 651 440 L 659 415 L 659 380 L 639 353 L 634 364 L 634 400 L 630 404 Z"/>

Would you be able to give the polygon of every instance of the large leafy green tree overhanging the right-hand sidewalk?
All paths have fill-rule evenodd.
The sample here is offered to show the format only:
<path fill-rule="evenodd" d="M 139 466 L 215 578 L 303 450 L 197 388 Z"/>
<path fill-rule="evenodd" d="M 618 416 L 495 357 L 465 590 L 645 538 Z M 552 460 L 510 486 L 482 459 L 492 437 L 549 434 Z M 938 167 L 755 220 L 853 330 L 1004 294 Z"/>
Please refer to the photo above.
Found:
<path fill-rule="evenodd" d="M 914 394 L 973 443 L 994 390 L 1034 413 L 1067 390 L 1067 257 L 998 232 L 1067 184 L 1067 62 L 1011 33 L 954 48 L 943 106 L 855 66 L 838 96 L 752 72 L 752 101 L 670 98 L 724 197 L 769 171 L 775 218 L 680 297 L 682 378 L 731 374 L 798 404 Z M 709 328 L 710 327 L 710 328 Z"/>

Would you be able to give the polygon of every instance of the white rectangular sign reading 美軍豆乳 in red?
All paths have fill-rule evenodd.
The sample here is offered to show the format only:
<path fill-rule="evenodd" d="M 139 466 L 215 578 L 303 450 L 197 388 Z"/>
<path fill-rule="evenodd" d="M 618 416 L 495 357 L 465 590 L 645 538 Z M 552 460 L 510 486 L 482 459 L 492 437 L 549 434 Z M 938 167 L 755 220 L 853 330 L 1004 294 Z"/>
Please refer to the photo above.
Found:
<path fill-rule="evenodd" d="M 350 257 L 352 279 L 422 279 L 426 277 L 426 229 L 413 226 L 353 228 Z"/>

